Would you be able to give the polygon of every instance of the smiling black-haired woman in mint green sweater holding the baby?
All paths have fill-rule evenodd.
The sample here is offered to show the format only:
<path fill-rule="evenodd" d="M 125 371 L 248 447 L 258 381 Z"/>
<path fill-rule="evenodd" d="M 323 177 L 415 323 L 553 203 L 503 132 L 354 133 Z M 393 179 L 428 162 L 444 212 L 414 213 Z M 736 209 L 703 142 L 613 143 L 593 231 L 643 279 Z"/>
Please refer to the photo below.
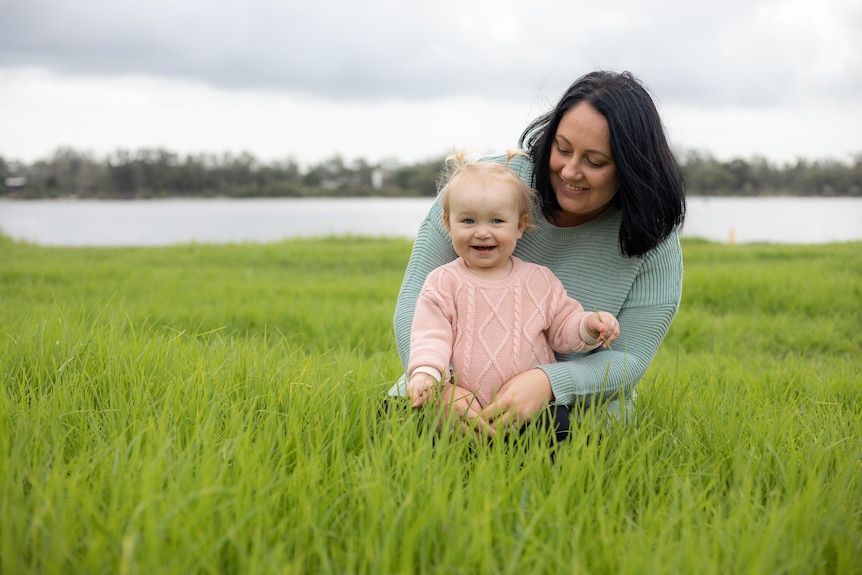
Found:
<path fill-rule="evenodd" d="M 677 230 L 685 191 L 652 98 L 629 73 L 579 78 L 527 127 L 519 145 L 528 159 L 510 167 L 536 188 L 541 202 L 534 229 L 514 254 L 551 268 L 585 309 L 614 314 L 620 336 L 612 350 L 559 355 L 557 363 L 516 375 L 478 414 L 450 401 L 462 391 L 453 384 L 443 385 L 438 401 L 490 435 L 547 415 L 562 436 L 569 418 L 586 408 L 631 412 L 635 386 L 679 308 Z M 417 234 L 395 310 L 405 366 L 419 291 L 432 269 L 455 257 L 435 203 Z M 399 385 L 390 391 L 403 394 Z"/>

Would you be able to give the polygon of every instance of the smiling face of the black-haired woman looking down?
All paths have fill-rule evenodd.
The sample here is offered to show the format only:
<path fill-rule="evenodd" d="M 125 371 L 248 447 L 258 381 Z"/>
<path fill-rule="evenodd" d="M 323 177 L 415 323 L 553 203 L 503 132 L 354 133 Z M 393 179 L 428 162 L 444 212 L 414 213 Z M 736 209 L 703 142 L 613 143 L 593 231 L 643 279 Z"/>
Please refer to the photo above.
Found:
<path fill-rule="evenodd" d="M 587 102 L 560 119 L 551 148 L 551 189 L 562 212 L 554 224 L 577 226 L 604 212 L 617 194 L 608 121 Z"/>

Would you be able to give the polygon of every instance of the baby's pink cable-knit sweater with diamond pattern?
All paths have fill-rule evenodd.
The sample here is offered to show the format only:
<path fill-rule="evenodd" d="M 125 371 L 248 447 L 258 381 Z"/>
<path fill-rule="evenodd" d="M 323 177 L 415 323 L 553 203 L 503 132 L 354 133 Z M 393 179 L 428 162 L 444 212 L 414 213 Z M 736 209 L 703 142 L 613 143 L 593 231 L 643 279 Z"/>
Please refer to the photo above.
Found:
<path fill-rule="evenodd" d="M 490 403 L 513 376 L 555 361 L 554 351 L 595 349 L 584 327 L 592 313 L 568 297 L 546 267 L 512 257 L 512 271 L 483 280 L 461 258 L 428 274 L 413 316 L 410 363 L 437 379 L 449 373 Z"/>

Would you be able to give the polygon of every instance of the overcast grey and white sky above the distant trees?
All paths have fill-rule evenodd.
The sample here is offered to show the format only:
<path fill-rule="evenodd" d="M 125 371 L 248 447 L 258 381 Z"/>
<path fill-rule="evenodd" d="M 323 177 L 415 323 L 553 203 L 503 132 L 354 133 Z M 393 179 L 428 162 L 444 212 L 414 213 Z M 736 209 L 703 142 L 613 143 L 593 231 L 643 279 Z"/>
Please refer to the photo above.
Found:
<path fill-rule="evenodd" d="M 680 153 L 862 154 L 858 0 L 0 0 L 0 22 L 7 161 L 498 152 L 598 69 L 640 78 Z"/>

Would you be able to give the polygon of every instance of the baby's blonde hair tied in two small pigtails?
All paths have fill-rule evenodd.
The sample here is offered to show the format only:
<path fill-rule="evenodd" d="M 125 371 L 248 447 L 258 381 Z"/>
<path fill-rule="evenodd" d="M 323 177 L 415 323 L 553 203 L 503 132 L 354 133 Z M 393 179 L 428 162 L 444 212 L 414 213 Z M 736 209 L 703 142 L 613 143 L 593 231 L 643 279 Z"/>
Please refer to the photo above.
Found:
<path fill-rule="evenodd" d="M 518 202 L 518 215 L 526 216 L 527 228 L 532 228 L 533 206 L 538 194 L 509 166 L 514 158 L 526 155 L 522 150 L 509 150 L 506 152 L 506 161 L 502 164 L 491 161 L 471 162 L 467 159 L 467 152 L 463 150 L 446 156 L 444 169 L 437 181 L 437 197 L 443 207 L 443 217 L 449 217 L 449 195 L 453 189 L 457 190 L 459 186 L 470 182 L 473 178 L 494 178 L 502 184 L 512 186 Z"/>

